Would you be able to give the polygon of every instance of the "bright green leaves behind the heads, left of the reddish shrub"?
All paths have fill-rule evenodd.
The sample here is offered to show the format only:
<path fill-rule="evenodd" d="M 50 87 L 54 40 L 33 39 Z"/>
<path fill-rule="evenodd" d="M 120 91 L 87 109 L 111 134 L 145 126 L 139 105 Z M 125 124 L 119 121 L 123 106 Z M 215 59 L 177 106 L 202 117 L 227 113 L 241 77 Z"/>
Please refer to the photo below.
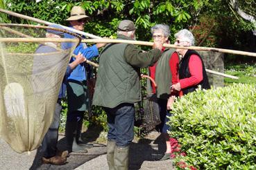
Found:
<path fill-rule="evenodd" d="M 112 0 L 112 1 L 71 1 L 71 0 L 6 0 L 8 10 L 36 17 L 54 23 L 67 25 L 65 19 L 69 16 L 72 6 L 83 6 L 91 21 L 86 31 L 99 36 L 110 36 L 121 19 L 131 19 L 137 26 L 139 39 L 150 39 L 149 28 L 155 23 L 167 23 L 172 32 L 186 28 L 187 23 L 193 23 L 198 10 L 207 1 L 149 1 L 149 0 Z M 15 22 L 17 18 L 12 18 Z M 145 32 L 145 30 L 148 30 Z"/>

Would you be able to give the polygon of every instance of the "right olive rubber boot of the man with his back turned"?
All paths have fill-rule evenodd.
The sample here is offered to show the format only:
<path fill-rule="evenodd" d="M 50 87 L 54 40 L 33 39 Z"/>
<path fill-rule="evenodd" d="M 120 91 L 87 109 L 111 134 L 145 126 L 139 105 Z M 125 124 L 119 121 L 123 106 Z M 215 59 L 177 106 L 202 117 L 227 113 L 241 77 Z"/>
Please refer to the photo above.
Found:
<path fill-rule="evenodd" d="M 129 146 L 114 148 L 114 169 L 128 170 L 129 167 Z"/>

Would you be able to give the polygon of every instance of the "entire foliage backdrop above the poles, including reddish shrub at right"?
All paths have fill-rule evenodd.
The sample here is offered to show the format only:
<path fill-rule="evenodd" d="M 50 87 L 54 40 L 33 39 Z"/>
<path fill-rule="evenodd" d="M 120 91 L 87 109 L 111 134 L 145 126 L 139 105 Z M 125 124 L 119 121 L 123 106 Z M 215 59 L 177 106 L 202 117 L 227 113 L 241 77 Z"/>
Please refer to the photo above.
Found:
<path fill-rule="evenodd" d="M 250 35 L 253 24 L 232 10 L 231 0 L 5 0 L 6 8 L 24 15 L 68 25 L 65 21 L 73 6 L 85 8 L 90 21 L 85 31 L 101 37 L 114 35 L 122 19 L 135 21 L 138 39 L 151 40 L 150 28 L 166 23 L 173 33 L 188 28 L 196 35 L 197 45 L 252 50 L 255 38 Z M 239 8 L 255 16 L 255 0 L 237 0 Z M 21 21 L 15 17 L 12 22 Z M 246 37 L 244 37 L 246 35 Z M 249 38 L 250 37 L 250 38 Z M 252 45 L 246 43 L 253 42 Z"/>

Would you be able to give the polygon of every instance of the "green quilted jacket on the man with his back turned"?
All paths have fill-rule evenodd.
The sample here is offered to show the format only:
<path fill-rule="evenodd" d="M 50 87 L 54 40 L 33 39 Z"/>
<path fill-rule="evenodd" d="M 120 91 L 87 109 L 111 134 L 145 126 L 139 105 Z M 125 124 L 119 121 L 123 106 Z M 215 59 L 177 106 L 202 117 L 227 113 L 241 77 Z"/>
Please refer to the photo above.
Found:
<path fill-rule="evenodd" d="M 133 40 L 123 35 L 118 39 Z M 108 44 L 100 56 L 92 104 L 114 108 L 141 100 L 139 68 L 152 66 L 161 51 L 143 53 L 133 44 Z"/>

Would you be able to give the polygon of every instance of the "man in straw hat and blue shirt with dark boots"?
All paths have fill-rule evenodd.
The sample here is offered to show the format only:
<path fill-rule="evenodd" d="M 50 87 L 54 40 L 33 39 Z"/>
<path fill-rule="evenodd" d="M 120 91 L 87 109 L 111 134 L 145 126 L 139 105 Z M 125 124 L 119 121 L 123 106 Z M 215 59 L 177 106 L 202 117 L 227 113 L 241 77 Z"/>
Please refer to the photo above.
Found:
<path fill-rule="evenodd" d="M 71 28 L 83 31 L 87 19 L 88 16 L 85 15 L 85 10 L 80 6 L 74 6 L 71 9 L 71 16 L 67 19 L 67 21 L 69 21 Z M 71 35 L 65 35 L 65 37 L 73 38 Z M 66 44 L 66 46 L 69 45 L 71 44 Z M 96 44 L 94 46 L 87 47 L 87 44 L 80 43 L 74 50 L 74 55 L 81 53 L 86 59 L 91 59 L 92 57 L 99 55 L 98 48 L 102 46 L 105 46 L 105 44 Z M 74 57 L 71 58 L 70 62 L 73 61 Z M 89 97 L 86 84 L 86 73 L 88 68 L 88 65 L 86 66 L 85 64 L 79 64 L 72 71 L 69 77 L 67 77 L 68 112 L 65 135 L 67 138 L 67 150 L 69 152 L 87 152 L 86 148 L 93 147 L 92 144 L 86 144 L 80 138 L 84 113 L 89 107 Z"/>

